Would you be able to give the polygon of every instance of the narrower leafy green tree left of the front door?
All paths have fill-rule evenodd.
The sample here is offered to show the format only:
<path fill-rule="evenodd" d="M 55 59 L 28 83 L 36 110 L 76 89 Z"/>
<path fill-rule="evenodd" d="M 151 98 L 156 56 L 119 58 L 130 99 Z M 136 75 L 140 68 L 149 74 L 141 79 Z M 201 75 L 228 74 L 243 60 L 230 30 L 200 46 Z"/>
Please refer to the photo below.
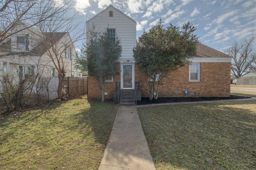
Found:
<path fill-rule="evenodd" d="M 104 102 L 105 81 L 108 76 L 115 76 L 118 67 L 118 59 L 121 57 L 122 46 L 120 39 L 110 37 L 107 31 L 99 34 L 92 29 L 89 32 L 90 39 L 86 45 L 83 43 L 80 57 L 77 60 L 78 68 L 88 71 L 89 76 L 94 76 L 98 87 L 102 91 Z"/>

